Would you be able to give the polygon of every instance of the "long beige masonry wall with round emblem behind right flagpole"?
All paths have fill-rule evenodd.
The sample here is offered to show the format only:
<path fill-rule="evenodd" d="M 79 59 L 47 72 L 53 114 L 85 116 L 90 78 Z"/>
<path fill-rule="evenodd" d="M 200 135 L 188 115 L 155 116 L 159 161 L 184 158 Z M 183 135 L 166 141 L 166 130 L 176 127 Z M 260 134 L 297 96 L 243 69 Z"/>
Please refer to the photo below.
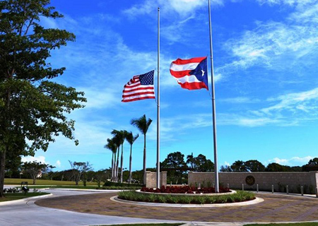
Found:
<path fill-rule="evenodd" d="M 318 172 L 220 172 L 220 186 L 228 186 L 230 189 L 256 190 L 259 184 L 259 191 L 271 191 L 273 184 L 274 191 L 285 192 L 288 185 L 289 192 L 300 193 L 300 186 L 303 186 L 306 194 L 314 194 L 318 186 Z M 255 183 L 251 186 L 245 182 L 247 176 L 252 176 Z M 207 186 L 214 183 L 214 172 L 189 172 L 188 184 Z"/>

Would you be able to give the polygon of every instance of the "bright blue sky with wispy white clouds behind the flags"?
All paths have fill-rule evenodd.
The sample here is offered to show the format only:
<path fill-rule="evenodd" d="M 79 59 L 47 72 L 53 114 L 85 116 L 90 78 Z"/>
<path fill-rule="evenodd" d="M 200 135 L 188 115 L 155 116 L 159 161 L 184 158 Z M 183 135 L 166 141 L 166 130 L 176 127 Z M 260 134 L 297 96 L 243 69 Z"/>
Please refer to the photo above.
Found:
<path fill-rule="evenodd" d="M 256 159 L 293 166 L 317 157 L 318 1 L 211 0 L 211 5 L 218 164 Z M 46 153 L 23 160 L 48 162 L 57 170 L 69 169 L 68 160 L 108 168 L 112 155 L 103 146 L 110 131 L 138 133 L 129 121 L 146 114 L 153 119 L 147 167 L 155 167 L 155 100 L 121 100 L 132 76 L 157 68 L 158 7 L 160 160 L 176 151 L 213 160 L 211 97 L 207 90 L 180 88 L 169 71 L 177 58 L 209 54 L 207 0 L 52 0 L 52 6 L 65 17 L 43 18 L 42 24 L 76 34 L 76 42 L 49 59 L 53 67 L 66 66 L 56 81 L 84 91 L 88 102 L 68 116 L 76 120 L 78 146 L 59 136 Z M 141 137 L 134 144 L 133 169 L 142 168 L 142 156 Z M 128 160 L 125 143 L 124 167 Z"/>

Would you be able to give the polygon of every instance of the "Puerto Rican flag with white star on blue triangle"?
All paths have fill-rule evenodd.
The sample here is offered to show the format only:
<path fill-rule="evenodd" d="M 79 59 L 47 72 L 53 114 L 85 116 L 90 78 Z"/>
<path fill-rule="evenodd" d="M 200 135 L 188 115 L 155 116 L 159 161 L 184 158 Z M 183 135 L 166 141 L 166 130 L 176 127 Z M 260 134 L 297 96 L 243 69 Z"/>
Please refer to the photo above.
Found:
<path fill-rule="evenodd" d="M 170 73 L 182 88 L 208 90 L 208 63 L 206 57 L 176 59 L 170 65 Z"/>

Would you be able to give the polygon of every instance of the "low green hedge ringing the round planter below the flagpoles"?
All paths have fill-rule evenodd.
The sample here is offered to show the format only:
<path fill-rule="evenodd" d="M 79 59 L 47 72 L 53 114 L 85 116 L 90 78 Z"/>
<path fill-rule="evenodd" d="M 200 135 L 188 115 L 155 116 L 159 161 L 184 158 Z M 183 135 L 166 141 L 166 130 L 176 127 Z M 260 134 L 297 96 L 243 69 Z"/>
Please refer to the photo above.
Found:
<path fill-rule="evenodd" d="M 151 203 L 213 204 L 249 201 L 254 199 L 255 195 L 249 191 L 237 191 L 236 194 L 225 196 L 165 196 L 160 194 L 141 194 L 136 191 L 120 191 L 118 197 L 130 201 Z"/>

